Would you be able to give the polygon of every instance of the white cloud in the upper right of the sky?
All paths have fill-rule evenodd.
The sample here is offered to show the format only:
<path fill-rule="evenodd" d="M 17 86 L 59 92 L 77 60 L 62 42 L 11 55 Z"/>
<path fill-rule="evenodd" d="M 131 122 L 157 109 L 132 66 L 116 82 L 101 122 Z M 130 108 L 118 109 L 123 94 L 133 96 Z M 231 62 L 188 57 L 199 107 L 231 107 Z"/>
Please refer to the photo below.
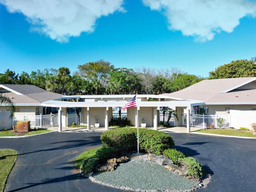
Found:
<path fill-rule="evenodd" d="M 196 41 L 212 40 L 221 31 L 233 32 L 239 20 L 256 16 L 253 0 L 142 0 L 151 10 L 163 12 L 170 30 L 180 30 Z"/>

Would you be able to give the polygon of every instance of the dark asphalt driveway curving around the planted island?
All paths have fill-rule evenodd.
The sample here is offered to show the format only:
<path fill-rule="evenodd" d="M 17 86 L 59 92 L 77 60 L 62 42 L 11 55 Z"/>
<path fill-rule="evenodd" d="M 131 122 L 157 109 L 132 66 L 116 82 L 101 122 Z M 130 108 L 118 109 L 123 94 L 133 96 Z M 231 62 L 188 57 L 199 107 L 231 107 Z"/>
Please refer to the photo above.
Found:
<path fill-rule="evenodd" d="M 94 184 L 75 167 L 76 156 L 101 146 L 100 134 L 50 133 L 26 138 L 0 138 L 0 148 L 18 151 L 6 192 L 121 192 Z M 212 180 L 198 192 L 256 191 L 256 140 L 170 133 L 176 149 L 196 158 Z"/>

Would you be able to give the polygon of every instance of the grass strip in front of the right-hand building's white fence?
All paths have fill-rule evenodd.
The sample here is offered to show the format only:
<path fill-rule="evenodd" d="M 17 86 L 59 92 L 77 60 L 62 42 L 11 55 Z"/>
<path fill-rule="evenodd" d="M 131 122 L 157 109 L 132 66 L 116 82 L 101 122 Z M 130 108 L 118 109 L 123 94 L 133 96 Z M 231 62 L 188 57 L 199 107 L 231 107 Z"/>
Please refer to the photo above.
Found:
<path fill-rule="evenodd" d="M 198 130 L 200 133 L 210 133 L 219 135 L 239 136 L 239 137 L 256 137 L 256 132 L 232 129 L 204 129 Z"/>

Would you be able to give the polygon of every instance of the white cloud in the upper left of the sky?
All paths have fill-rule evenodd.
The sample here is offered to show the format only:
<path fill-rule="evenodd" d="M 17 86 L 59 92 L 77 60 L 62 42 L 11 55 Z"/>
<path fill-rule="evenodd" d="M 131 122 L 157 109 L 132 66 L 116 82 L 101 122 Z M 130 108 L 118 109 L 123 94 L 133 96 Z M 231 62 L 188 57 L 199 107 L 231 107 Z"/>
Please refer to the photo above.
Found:
<path fill-rule="evenodd" d="M 93 32 L 96 19 L 123 12 L 123 0 L 0 0 L 9 12 L 21 12 L 31 29 L 58 42 L 81 32 Z"/>

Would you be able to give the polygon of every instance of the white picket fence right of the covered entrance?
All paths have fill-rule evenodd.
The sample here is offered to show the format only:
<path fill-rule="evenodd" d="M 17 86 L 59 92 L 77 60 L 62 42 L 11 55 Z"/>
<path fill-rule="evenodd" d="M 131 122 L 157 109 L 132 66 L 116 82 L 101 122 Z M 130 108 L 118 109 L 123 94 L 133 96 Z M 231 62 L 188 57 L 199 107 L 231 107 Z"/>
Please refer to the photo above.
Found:
<path fill-rule="evenodd" d="M 226 128 L 230 126 L 230 115 L 191 114 L 191 126 L 200 128 Z M 187 125 L 187 114 L 182 114 L 182 123 Z"/>

